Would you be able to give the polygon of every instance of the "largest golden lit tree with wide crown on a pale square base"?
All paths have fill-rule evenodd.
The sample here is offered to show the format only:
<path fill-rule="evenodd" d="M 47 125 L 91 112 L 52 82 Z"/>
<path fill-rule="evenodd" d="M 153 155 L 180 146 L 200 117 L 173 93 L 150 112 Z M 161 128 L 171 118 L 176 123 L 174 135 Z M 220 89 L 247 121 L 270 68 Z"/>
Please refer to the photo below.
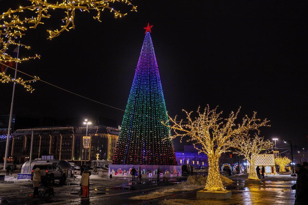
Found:
<path fill-rule="evenodd" d="M 176 117 L 172 119 L 169 116 L 170 125 L 167 122 L 162 123 L 175 132 L 172 138 L 180 136 L 182 141 L 184 136 L 189 136 L 187 141 L 192 141 L 198 152 L 204 152 L 208 156 L 209 175 L 204 189 L 224 191 L 218 164 L 221 154 L 229 151 L 234 137 L 246 135 L 250 130 L 259 131 L 260 127 L 268 126 L 269 121 L 257 119 L 257 113 L 253 112 L 252 117 L 246 115 L 241 123 L 236 125 L 235 120 L 240 109 L 236 113 L 231 112 L 226 119 L 221 117 L 222 112 L 217 113 L 217 107 L 210 109 L 207 105 L 203 113 L 199 112 L 199 109 L 200 107 L 197 110 L 198 116 L 194 119 L 191 117 L 192 112 L 183 110 L 188 122 L 183 120 L 178 122 Z M 201 148 L 199 149 L 196 144 L 201 145 Z"/>

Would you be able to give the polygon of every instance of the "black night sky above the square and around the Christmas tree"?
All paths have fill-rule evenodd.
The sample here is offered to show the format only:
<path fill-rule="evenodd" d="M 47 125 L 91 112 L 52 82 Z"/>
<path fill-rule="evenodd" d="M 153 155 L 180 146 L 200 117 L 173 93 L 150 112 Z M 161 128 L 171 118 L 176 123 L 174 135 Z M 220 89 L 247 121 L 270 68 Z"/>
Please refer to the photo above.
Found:
<path fill-rule="evenodd" d="M 16 8 L 23 1 L 0 1 Z M 75 30 L 46 40 L 47 29 L 62 25 L 63 11 L 21 41 L 31 50 L 20 57 L 41 59 L 18 69 L 93 100 L 125 109 L 138 62 L 144 29 L 149 22 L 168 113 L 219 105 L 227 116 L 241 106 L 241 116 L 258 112 L 272 125 L 261 135 L 307 146 L 307 7 L 305 1 L 142 1 L 138 12 L 120 6 L 125 18 L 76 11 Z M 10 4 L 10 5 L 9 5 Z M 115 8 L 117 8 L 115 6 Z M 12 71 L 11 75 L 13 74 Z M 27 77 L 21 76 L 24 79 Z M 0 114 L 8 115 L 12 84 L 1 84 Z M 122 111 L 77 97 L 43 82 L 31 94 L 16 86 L 14 114 L 28 116 L 101 115 L 116 119 Z M 284 145 L 282 141 L 277 146 Z M 175 140 L 177 150 L 183 144 Z M 298 146 L 298 147 L 297 147 Z"/>

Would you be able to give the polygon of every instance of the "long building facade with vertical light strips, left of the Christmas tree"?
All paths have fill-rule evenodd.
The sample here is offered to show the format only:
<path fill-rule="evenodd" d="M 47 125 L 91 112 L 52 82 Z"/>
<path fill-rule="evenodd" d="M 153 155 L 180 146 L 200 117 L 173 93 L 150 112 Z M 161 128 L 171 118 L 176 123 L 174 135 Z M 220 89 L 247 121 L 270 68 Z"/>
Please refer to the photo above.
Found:
<path fill-rule="evenodd" d="M 54 159 L 67 160 L 81 164 L 86 161 L 112 160 L 117 143 L 119 129 L 107 126 L 89 126 L 87 136 L 91 137 L 90 147 L 83 148 L 83 136 L 86 136 L 86 127 L 41 127 L 18 129 L 12 133 L 12 146 L 9 156 L 14 163 L 24 163 L 29 159 L 31 134 L 33 132 L 32 159 L 42 155 L 52 155 Z M 84 154 L 86 152 L 86 155 Z"/>

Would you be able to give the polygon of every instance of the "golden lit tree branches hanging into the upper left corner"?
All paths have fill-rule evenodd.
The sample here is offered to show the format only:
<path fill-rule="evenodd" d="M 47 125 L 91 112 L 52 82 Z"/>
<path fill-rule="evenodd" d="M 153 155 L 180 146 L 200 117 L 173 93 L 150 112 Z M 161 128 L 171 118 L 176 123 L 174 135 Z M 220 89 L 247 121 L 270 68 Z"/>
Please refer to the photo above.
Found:
<path fill-rule="evenodd" d="M 35 55 L 33 57 L 17 58 L 8 54 L 7 50 L 11 45 L 30 49 L 30 46 L 18 43 L 18 39 L 25 35 L 26 30 L 30 28 L 35 29 L 38 25 L 44 24 L 43 20 L 51 17 L 51 10 L 61 10 L 65 14 L 65 17 L 61 19 L 63 24 L 59 29 L 47 30 L 49 34 L 48 39 L 50 40 L 59 36 L 63 31 L 69 31 L 75 28 L 74 18 L 76 10 L 80 12 L 90 12 L 94 10 L 96 14 L 93 18 L 100 21 L 100 14 L 104 10 L 113 13 L 115 18 L 121 18 L 126 15 L 126 13 L 121 13 L 120 10 L 114 8 L 119 6 L 116 5 L 117 2 L 130 5 L 131 11 L 136 11 L 137 8 L 137 6 L 132 5 L 128 0 L 28 0 L 24 2 L 29 2 L 29 4 L 19 6 L 17 9 L 10 8 L 6 12 L 1 12 L 0 63 L 2 64 L 12 61 L 21 62 L 39 57 L 39 55 Z M 23 81 L 21 78 L 16 81 L 4 72 L 1 73 L 1 77 L 2 82 L 14 81 L 24 86 L 27 84 L 27 81 Z"/>

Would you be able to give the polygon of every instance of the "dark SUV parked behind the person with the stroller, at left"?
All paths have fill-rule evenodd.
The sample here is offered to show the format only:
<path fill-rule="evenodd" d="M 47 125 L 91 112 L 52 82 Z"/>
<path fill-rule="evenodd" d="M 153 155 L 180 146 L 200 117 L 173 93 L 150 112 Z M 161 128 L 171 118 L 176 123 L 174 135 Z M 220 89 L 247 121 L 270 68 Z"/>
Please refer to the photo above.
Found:
<path fill-rule="evenodd" d="M 36 164 L 33 166 L 31 171 L 31 180 L 33 179 L 33 174 L 36 168 L 40 169 L 41 179 L 44 179 L 46 176 L 49 176 L 53 179 L 60 180 L 60 183 L 64 183 L 66 181 L 66 174 L 61 170 L 59 166 L 52 164 Z"/>

